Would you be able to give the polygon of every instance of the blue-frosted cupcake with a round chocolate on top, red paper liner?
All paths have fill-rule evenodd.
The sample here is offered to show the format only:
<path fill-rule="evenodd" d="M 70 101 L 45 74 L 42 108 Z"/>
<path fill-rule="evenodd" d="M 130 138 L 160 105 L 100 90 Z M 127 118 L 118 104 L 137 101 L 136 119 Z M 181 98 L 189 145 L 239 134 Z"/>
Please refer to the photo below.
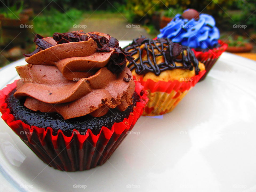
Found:
<path fill-rule="evenodd" d="M 219 40 L 219 30 L 211 15 L 199 14 L 187 9 L 177 14 L 166 27 L 160 29 L 157 38 L 169 38 L 175 43 L 190 47 L 198 61 L 205 65 L 203 80 L 219 56 L 227 49 L 227 44 Z"/>

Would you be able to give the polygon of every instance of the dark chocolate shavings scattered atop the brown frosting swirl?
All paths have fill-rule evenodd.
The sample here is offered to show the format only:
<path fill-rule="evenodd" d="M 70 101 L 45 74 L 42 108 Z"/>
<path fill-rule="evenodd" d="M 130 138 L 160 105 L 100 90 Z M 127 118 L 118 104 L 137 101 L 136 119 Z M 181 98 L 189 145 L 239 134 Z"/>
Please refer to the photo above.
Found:
<path fill-rule="evenodd" d="M 110 48 L 114 48 L 115 51 L 110 56 L 110 61 L 107 63 L 107 69 L 112 73 L 119 74 L 122 72 L 126 66 L 126 59 L 129 62 L 133 61 L 131 53 L 124 51 L 120 46 L 117 39 L 110 37 L 110 39 L 95 34 L 95 33 L 85 33 L 83 31 L 73 31 L 69 33 L 54 33 L 53 39 L 57 44 L 69 43 L 69 42 L 79 42 L 79 41 L 88 41 L 89 38 L 92 38 L 97 43 L 98 52 L 110 52 Z M 25 57 L 31 57 L 32 55 L 38 53 L 40 50 L 45 50 L 54 45 L 45 41 L 43 37 L 37 34 L 34 38 L 35 44 L 38 46 L 35 51 L 30 54 L 24 54 Z"/>

